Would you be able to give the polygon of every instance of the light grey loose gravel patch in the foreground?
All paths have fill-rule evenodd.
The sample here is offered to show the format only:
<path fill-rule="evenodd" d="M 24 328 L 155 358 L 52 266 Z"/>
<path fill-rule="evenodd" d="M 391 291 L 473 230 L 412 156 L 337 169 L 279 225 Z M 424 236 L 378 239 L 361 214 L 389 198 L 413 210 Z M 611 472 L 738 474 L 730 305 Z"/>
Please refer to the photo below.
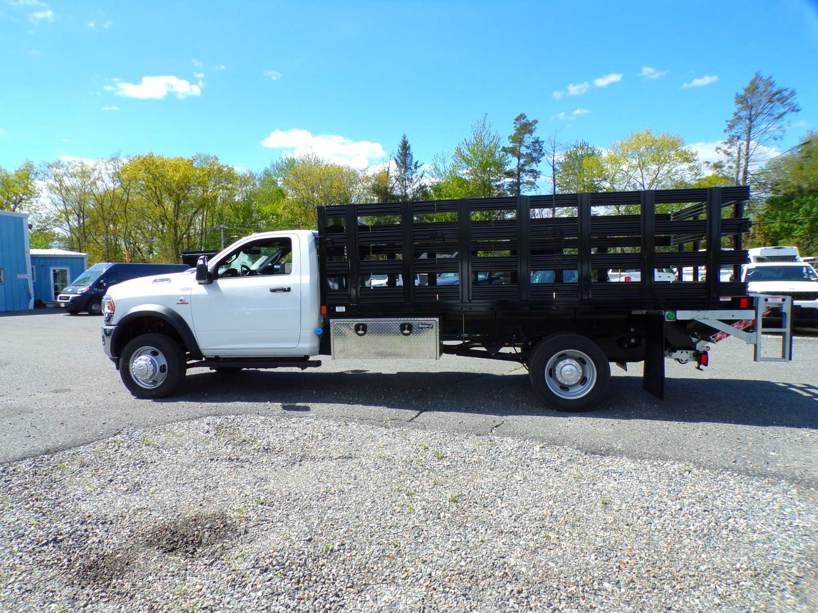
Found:
<path fill-rule="evenodd" d="M 228 416 L 0 466 L 0 611 L 803 611 L 791 482 Z"/>

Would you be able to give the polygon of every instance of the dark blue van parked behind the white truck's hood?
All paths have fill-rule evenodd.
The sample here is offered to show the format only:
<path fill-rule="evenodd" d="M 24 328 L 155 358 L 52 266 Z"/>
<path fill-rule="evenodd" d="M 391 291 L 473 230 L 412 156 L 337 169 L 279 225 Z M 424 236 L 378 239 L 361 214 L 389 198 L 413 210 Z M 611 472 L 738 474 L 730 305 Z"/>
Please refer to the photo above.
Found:
<path fill-rule="evenodd" d="M 92 315 L 100 315 L 101 302 L 111 285 L 123 281 L 164 275 L 165 273 L 182 272 L 189 270 L 187 264 L 132 264 L 128 262 L 100 262 L 94 264 L 83 274 L 71 281 L 59 296 L 57 304 L 65 311 L 76 314 L 88 311 Z"/>

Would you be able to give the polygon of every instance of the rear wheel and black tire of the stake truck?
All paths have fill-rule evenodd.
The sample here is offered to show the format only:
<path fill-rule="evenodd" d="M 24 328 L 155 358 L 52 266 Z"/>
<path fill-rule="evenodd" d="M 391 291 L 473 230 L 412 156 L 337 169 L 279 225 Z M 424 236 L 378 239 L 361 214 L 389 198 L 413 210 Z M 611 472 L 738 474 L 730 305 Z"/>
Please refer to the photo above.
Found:
<path fill-rule="evenodd" d="M 556 334 L 534 348 L 528 375 L 534 393 L 546 405 L 558 411 L 585 411 L 608 392 L 611 369 L 596 342 L 580 334 Z"/>

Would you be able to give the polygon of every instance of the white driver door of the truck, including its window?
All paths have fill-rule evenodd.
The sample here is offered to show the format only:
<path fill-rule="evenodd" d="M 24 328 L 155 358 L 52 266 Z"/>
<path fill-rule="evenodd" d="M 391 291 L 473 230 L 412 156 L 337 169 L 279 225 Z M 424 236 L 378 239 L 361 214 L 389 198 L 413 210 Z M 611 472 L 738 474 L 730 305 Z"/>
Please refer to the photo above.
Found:
<path fill-rule="evenodd" d="M 276 356 L 301 335 L 298 235 L 241 244 L 209 267 L 215 280 L 196 284 L 191 315 L 205 356 Z"/>

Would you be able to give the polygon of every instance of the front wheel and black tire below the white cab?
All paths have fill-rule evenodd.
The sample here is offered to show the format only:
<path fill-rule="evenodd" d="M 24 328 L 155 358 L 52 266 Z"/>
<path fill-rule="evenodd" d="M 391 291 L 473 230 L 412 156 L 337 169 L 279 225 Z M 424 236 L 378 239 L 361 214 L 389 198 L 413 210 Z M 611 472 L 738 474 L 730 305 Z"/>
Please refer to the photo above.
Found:
<path fill-rule="evenodd" d="M 140 357 L 144 357 L 142 364 L 132 372 L 132 362 Z M 137 369 L 141 369 L 142 378 L 138 374 L 134 378 Z M 185 351 L 164 334 L 142 334 L 133 338 L 119 357 L 119 377 L 137 398 L 151 400 L 170 396 L 182 383 L 186 372 Z"/>

